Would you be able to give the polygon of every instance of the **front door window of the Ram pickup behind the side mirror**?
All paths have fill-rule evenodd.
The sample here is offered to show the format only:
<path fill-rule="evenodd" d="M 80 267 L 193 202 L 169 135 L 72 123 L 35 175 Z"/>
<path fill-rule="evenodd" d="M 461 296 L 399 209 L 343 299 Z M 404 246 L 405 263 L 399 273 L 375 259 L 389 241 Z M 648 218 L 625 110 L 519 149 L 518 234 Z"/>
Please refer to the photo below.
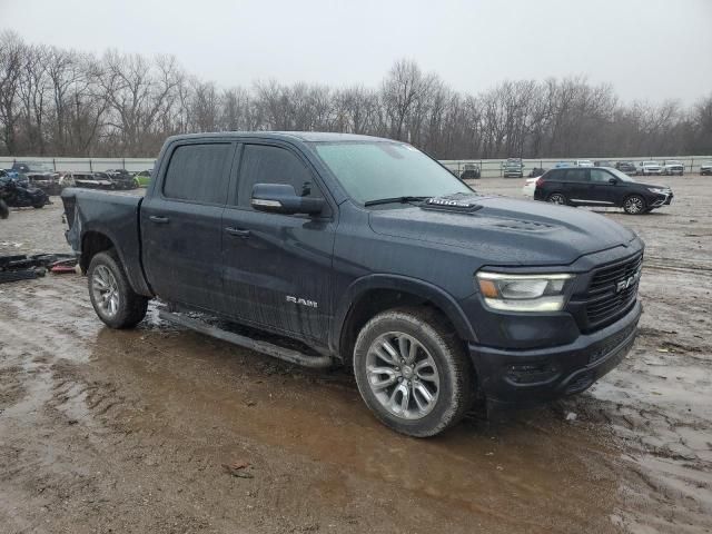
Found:
<path fill-rule="evenodd" d="M 267 145 L 245 146 L 237 191 L 239 206 L 250 206 L 255 184 L 288 184 L 301 197 L 324 198 L 307 166 L 284 148 Z"/>

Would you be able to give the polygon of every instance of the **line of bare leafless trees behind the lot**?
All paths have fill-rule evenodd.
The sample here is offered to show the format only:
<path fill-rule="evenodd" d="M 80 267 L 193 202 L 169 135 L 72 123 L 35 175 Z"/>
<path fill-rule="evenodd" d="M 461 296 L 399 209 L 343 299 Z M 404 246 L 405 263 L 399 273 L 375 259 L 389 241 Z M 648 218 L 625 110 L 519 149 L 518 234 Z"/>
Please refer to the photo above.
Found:
<path fill-rule="evenodd" d="M 220 88 L 172 56 L 102 56 L 0 33 L 0 154 L 154 157 L 170 135 L 323 130 L 412 142 L 439 159 L 712 154 L 712 92 L 624 102 L 583 77 L 453 90 L 415 61 L 376 88 L 258 81 Z"/>

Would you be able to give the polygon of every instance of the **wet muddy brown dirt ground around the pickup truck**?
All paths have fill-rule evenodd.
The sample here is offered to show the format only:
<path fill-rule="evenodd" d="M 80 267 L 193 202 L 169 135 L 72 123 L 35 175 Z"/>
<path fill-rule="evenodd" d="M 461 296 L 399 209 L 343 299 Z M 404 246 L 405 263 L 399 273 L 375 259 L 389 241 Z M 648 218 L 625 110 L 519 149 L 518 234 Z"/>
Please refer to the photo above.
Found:
<path fill-rule="evenodd" d="M 78 275 L 0 285 L 0 532 L 712 532 L 712 178 L 656 181 L 671 207 L 604 214 L 647 244 L 624 363 L 577 397 L 427 441 L 380 426 L 343 370 L 155 309 L 108 329 Z M 0 254 L 66 251 L 56 202 L 0 221 Z"/>

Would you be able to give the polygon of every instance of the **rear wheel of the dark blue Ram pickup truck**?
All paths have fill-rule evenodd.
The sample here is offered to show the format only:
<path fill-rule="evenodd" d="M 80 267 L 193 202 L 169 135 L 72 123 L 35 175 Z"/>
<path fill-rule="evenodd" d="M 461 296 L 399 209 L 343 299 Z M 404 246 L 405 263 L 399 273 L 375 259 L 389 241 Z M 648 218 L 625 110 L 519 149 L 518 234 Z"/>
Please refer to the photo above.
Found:
<path fill-rule="evenodd" d="M 131 288 L 115 250 L 97 254 L 87 269 L 93 310 L 111 328 L 131 328 L 146 317 L 148 298 Z"/>

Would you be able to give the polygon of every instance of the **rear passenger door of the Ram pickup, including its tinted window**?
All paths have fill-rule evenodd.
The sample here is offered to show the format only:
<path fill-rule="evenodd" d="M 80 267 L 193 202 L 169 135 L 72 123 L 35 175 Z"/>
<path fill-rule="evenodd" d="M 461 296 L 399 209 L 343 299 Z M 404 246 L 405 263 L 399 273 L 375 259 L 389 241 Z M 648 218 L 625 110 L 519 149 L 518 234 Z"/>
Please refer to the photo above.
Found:
<path fill-rule="evenodd" d="M 141 204 L 144 267 L 161 298 L 209 310 L 222 293 L 222 211 L 236 144 L 171 147 Z"/>

